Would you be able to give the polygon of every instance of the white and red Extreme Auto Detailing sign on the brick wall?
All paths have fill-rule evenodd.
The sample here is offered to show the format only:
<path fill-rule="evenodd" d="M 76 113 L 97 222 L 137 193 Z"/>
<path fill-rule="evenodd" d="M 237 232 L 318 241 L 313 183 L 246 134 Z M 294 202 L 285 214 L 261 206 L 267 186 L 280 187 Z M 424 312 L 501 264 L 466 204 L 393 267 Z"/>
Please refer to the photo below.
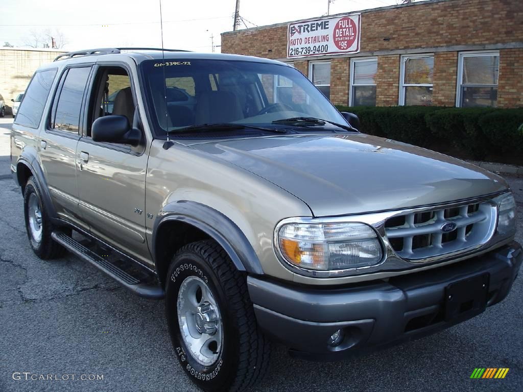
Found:
<path fill-rule="evenodd" d="M 361 14 L 290 23 L 287 57 L 358 53 Z"/>

